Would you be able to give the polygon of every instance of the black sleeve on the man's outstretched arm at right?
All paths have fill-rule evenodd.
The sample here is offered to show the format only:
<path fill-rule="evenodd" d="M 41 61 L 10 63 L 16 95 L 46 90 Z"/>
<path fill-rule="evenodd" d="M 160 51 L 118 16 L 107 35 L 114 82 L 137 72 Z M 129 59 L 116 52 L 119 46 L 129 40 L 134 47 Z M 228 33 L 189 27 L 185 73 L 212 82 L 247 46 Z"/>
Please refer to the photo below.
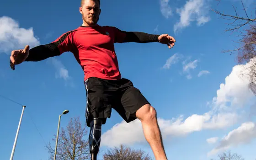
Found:
<path fill-rule="evenodd" d="M 124 31 L 123 31 L 124 32 Z M 150 43 L 150 42 L 159 42 L 159 35 L 148 34 L 144 32 L 124 32 L 126 36 L 123 40 L 123 43 L 126 42 L 136 42 L 136 43 Z"/>

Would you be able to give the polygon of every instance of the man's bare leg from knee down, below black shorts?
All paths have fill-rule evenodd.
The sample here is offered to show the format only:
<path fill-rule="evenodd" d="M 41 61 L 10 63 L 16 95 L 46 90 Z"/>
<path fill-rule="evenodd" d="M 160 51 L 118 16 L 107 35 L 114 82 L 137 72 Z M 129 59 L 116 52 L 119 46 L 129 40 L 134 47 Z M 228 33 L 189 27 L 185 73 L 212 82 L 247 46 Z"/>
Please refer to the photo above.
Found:
<path fill-rule="evenodd" d="M 148 141 L 156 160 L 167 160 L 155 108 L 144 105 L 136 112 L 141 121 L 145 139 Z"/>

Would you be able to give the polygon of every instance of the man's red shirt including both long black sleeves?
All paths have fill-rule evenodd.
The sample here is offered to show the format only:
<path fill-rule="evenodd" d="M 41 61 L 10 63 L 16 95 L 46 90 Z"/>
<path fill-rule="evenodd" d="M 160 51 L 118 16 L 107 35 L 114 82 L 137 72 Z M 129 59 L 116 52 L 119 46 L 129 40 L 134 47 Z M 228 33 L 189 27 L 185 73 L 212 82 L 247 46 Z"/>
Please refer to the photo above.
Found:
<path fill-rule="evenodd" d="M 84 70 L 84 80 L 90 77 L 117 80 L 121 78 L 114 43 L 158 42 L 159 35 L 124 32 L 116 27 L 80 26 L 66 32 L 52 43 L 30 49 L 26 61 L 39 61 L 71 52 Z"/>

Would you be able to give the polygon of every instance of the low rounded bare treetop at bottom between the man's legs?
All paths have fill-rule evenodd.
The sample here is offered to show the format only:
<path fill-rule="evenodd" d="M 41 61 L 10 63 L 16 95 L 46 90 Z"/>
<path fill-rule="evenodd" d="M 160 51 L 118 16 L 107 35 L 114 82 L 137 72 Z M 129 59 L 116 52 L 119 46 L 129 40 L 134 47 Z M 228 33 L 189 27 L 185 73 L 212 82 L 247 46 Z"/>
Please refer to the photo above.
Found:
<path fill-rule="evenodd" d="M 115 147 L 114 149 L 108 149 L 103 155 L 104 160 L 152 160 L 149 154 L 146 154 L 143 150 L 135 150 L 124 145 Z"/>

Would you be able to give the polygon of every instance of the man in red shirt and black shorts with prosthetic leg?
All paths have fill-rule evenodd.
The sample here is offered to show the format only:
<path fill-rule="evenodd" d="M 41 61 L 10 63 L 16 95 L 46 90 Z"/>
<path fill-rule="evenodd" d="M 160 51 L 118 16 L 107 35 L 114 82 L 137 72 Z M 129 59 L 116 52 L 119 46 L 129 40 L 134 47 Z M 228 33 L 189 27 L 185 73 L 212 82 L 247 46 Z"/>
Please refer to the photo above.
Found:
<path fill-rule="evenodd" d="M 84 70 L 86 88 L 86 124 L 91 127 L 91 159 L 96 160 L 100 146 L 101 125 L 115 109 L 129 123 L 139 119 L 145 139 L 156 160 L 167 160 L 157 123 L 156 111 L 133 86 L 130 80 L 121 78 L 114 43 L 159 42 L 172 48 L 175 39 L 168 34 L 152 35 L 143 32 L 124 32 L 116 27 L 97 24 L 101 13 L 100 0 L 82 0 L 79 8 L 83 24 L 61 35 L 49 44 L 11 52 L 11 68 L 23 61 L 41 61 L 64 52 L 71 52 Z"/>

